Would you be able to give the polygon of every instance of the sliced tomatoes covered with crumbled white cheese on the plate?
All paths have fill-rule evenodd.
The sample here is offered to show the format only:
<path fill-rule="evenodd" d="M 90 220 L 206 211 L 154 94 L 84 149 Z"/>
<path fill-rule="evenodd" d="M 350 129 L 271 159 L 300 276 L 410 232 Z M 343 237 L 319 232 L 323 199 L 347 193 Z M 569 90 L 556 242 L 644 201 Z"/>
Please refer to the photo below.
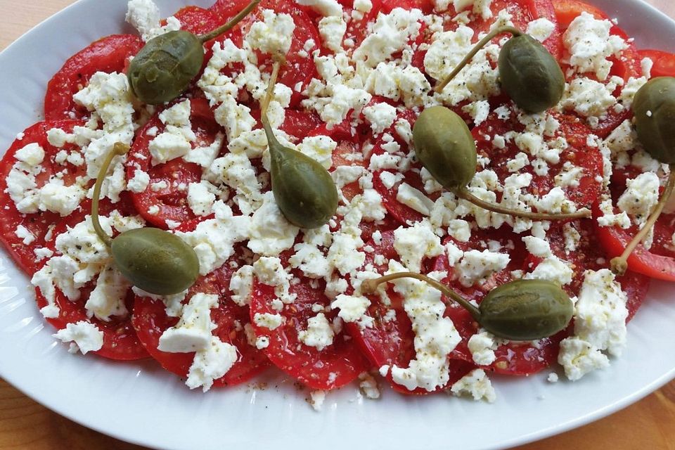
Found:
<path fill-rule="evenodd" d="M 650 279 L 675 281 L 668 205 L 627 270 L 610 270 L 668 186 L 669 161 L 643 146 L 632 106 L 651 78 L 675 77 L 675 55 L 637 49 L 595 6 L 217 0 L 161 18 L 130 0 L 126 19 L 139 34 L 69 58 L 46 86 L 45 120 L 1 165 L 0 240 L 71 352 L 153 358 L 204 391 L 276 366 L 316 408 L 354 381 L 377 398 L 378 378 L 494 401 L 491 373 L 555 382 L 556 364 L 570 380 L 605 368 Z M 143 103 L 143 52 L 178 30 L 201 39 L 203 58 L 177 97 Z M 503 65 L 526 44 L 560 77 L 536 111 L 541 80 L 523 95 Z M 329 174 L 338 204 L 322 225 L 291 218 L 311 206 L 279 192 L 299 185 L 278 172 L 275 146 Z M 425 153 L 448 146 L 475 146 L 474 159 Z M 455 166 L 468 170 L 456 184 Z M 120 266 L 117 237 L 146 229 L 195 255 L 187 288 L 148 292 Z M 380 280 L 400 272 L 449 290 Z M 487 303 L 529 281 L 560 291 L 570 315 L 509 339 Z"/>

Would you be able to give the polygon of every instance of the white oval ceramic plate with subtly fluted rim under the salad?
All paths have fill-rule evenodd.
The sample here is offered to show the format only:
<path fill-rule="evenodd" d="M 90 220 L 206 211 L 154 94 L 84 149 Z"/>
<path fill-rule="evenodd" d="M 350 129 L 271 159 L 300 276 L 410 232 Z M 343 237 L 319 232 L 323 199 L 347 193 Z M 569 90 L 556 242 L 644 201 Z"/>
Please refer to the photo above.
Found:
<path fill-rule="evenodd" d="M 188 1 L 207 6 L 209 0 Z M 636 0 L 596 0 L 638 47 L 675 51 L 675 22 Z M 158 0 L 169 15 L 181 0 Z M 0 54 L 0 148 L 41 118 L 47 81 L 94 39 L 132 32 L 126 0 L 80 0 Z M 86 20 L 85 20 L 86 18 Z M 494 377 L 498 399 L 404 397 L 383 389 L 364 400 L 356 387 L 331 392 L 321 413 L 307 391 L 270 371 L 255 385 L 190 391 L 153 361 L 112 363 L 73 356 L 51 338 L 30 283 L 0 254 L 0 377 L 41 404 L 89 428 L 160 449 L 322 450 L 501 449 L 570 430 L 617 411 L 675 377 L 675 285 L 653 283 L 629 326 L 628 347 L 605 371 L 577 383 Z M 561 377 L 563 378 L 563 377 Z"/>

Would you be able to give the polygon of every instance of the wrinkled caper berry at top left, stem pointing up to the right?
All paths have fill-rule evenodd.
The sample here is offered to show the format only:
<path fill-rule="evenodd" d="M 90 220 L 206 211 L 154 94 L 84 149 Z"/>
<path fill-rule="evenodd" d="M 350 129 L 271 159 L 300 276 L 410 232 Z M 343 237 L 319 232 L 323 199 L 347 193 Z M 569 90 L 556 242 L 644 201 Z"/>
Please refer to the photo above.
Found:
<path fill-rule="evenodd" d="M 259 2 L 251 1 L 228 23 L 210 33 L 197 36 L 179 30 L 150 39 L 131 60 L 127 71 L 129 86 L 136 98 L 150 105 L 158 105 L 180 96 L 202 68 L 203 44 L 230 30 Z"/>

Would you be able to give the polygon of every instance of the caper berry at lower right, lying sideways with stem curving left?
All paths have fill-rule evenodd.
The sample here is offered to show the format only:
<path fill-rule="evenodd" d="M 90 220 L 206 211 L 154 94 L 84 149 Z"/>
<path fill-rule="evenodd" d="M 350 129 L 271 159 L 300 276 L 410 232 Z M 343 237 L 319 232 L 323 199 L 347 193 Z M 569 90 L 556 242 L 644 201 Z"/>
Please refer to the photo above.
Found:
<path fill-rule="evenodd" d="M 372 294 L 380 283 L 397 278 L 415 278 L 440 290 L 465 308 L 490 333 L 508 340 L 548 338 L 567 328 L 572 320 L 572 300 L 559 285 L 544 280 L 517 280 L 494 288 L 478 307 L 433 278 L 399 272 L 366 280 L 361 292 Z"/>

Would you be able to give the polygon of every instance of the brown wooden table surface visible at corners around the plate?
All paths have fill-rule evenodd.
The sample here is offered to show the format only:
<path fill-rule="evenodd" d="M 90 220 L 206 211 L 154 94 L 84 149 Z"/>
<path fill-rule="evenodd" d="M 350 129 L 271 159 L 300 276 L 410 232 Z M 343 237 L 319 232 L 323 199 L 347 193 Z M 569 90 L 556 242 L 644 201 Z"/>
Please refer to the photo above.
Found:
<path fill-rule="evenodd" d="M 0 49 L 72 3 L 73 0 L 0 0 Z M 648 3 L 675 17 L 674 0 L 648 0 Z M 608 418 L 519 447 L 522 450 L 600 448 L 675 450 L 675 381 Z M 7 449 L 142 450 L 144 447 L 78 425 L 0 380 L 0 450 Z"/>

